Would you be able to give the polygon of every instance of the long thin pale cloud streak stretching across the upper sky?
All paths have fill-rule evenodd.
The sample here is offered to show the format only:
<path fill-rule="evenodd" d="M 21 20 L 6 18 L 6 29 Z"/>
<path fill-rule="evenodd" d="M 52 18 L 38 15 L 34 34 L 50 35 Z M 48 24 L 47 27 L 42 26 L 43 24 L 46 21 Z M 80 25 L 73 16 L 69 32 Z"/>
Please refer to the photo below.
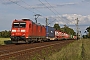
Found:
<path fill-rule="evenodd" d="M 63 4 L 48 4 L 48 3 L 43 3 L 43 4 L 36 4 L 33 6 L 25 6 L 26 8 L 30 8 L 30 9 L 39 9 L 39 8 L 58 8 L 61 6 L 72 6 L 72 5 L 76 5 L 77 3 L 63 3 Z"/>

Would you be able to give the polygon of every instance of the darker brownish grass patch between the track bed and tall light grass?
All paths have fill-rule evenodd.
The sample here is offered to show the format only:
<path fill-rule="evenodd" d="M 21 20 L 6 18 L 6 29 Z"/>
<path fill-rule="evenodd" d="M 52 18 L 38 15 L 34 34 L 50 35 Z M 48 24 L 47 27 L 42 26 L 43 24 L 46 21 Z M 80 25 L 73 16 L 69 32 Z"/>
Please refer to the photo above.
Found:
<path fill-rule="evenodd" d="M 53 46 L 50 46 L 50 47 L 47 47 L 38 51 L 38 53 L 35 53 L 31 57 L 29 57 L 29 59 L 30 60 L 47 60 L 47 57 L 52 55 L 55 52 L 56 52 L 56 49 L 53 49 Z"/>

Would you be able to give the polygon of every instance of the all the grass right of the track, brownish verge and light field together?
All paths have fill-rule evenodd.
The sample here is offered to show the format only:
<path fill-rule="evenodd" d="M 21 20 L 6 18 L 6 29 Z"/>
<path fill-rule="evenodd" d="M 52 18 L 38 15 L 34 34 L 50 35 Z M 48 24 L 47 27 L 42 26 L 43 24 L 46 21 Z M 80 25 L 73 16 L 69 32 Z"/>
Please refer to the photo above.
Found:
<path fill-rule="evenodd" d="M 90 39 L 76 40 L 58 52 L 52 46 L 47 47 L 27 60 L 90 60 Z"/>

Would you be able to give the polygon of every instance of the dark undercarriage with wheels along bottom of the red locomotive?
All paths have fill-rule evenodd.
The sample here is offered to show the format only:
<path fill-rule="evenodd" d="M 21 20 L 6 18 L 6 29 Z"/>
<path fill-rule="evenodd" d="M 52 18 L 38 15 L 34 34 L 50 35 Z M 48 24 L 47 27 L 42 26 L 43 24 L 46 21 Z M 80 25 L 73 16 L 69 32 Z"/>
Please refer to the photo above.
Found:
<path fill-rule="evenodd" d="M 12 43 L 32 43 L 47 41 L 46 37 L 24 37 L 24 36 L 11 36 Z"/>

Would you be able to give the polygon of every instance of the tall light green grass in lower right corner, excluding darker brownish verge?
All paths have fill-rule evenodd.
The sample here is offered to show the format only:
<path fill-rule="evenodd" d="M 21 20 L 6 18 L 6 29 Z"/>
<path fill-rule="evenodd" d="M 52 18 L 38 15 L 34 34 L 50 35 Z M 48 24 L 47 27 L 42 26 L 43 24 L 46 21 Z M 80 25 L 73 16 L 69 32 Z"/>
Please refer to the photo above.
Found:
<path fill-rule="evenodd" d="M 90 39 L 70 43 L 47 60 L 90 60 Z"/>

